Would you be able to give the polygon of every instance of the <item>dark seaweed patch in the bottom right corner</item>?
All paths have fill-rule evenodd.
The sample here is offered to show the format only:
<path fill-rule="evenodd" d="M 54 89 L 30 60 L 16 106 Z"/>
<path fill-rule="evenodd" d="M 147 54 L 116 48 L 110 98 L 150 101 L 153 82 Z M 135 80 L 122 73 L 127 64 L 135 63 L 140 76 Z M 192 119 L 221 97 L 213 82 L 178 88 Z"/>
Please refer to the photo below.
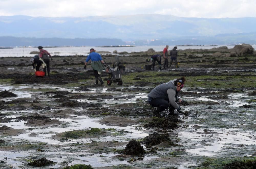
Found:
<path fill-rule="evenodd" d="M 256 160 L 244 160 L 244 161 L 237 161 L 229 164 L 225 164 L 223 169 L 244 169 L 244 168 L 256 168 Z"/>

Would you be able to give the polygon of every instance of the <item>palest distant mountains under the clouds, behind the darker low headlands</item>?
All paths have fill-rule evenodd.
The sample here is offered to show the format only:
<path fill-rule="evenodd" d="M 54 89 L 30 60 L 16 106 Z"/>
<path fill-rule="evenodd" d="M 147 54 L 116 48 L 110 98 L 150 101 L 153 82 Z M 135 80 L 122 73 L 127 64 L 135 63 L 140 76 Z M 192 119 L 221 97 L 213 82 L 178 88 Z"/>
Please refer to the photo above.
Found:
<path fill-rule="evenodd" d="M 256 17 L 184 18 L 172 15 L 91 17 L 0 16 L 0 36 L 117 38 L 122 40 L 215 36 L 254 32 Z"/>

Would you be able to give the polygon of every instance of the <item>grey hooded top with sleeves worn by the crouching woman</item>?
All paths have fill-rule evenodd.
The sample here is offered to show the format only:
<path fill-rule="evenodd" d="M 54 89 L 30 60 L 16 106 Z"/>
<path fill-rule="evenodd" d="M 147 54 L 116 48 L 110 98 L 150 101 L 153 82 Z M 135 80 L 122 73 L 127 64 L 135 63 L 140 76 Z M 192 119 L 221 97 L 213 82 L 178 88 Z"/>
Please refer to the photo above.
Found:
<path fill-rule="evenodd" d="M 151 101 L 155 98 L 161 98 L 164 100 L 168 100 L 170 105 L 174 108 L 178 109 L 180 106 L 177 102 L 180 100 L 178 98 L 179 92 L 177 92 L 177 86 L 174 85 L 174 80 L 170 80 L 167 83 L 163 83 L 155 87 L 151 92 L 148 94 L 148 101 Z"/>

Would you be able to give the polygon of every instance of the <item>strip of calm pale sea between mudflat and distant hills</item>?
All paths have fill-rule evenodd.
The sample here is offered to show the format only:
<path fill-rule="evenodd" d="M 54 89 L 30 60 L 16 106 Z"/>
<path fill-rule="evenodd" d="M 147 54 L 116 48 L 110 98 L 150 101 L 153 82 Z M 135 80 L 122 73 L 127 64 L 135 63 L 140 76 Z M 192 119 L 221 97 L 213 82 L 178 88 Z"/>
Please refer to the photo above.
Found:
<path fill-rule="evenodd" d="M 213 47 L 220 47 L 225 45 L 218 46 L 178 46 L 178 50 L 184 49 L 211 49 Z M 85 46 L 85 47 L 44 47 L 51 55 L 59 56 L 68 56 L 68 55 L 85 55 L 87 56 L 90 49 L 94 48 L 97 51 L 108 51 L 113 52 L 114 50 L 118 52 L 144 52 L 150 48 L 153 48 L 155 51 L 163 51 L 165 46 L 134 46 L 134 47 L 95 47 L 95 46 Z M 172 50 L 174 46 L 169 46 L 169 50 Z M 233 48 L 233 45 L 227 46 L 229 49 Z M 256 45 L 252 45 L 256 47 Z M 0 57 L 22 57 L 22 56 L 31 56 L 35 54 L 29 54 L 32 51 L 38 51 L 37 47 L 15 47 L 13 49 L 0 49 Z"/>

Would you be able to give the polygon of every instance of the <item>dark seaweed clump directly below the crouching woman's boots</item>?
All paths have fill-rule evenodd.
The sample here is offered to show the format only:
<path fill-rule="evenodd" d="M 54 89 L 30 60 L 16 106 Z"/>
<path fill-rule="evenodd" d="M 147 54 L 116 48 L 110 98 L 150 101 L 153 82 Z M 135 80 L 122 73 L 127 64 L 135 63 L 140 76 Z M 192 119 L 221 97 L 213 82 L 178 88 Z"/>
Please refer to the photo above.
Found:
<path fill-rule="evenodd" d="M 168 116 L 163 118 L 154 118 L 151 122 L 148 122 L 144 127 L 161 127 L 163 129 L 176 128 L 178 122 L 183 122 L 177 118 Z"/>

